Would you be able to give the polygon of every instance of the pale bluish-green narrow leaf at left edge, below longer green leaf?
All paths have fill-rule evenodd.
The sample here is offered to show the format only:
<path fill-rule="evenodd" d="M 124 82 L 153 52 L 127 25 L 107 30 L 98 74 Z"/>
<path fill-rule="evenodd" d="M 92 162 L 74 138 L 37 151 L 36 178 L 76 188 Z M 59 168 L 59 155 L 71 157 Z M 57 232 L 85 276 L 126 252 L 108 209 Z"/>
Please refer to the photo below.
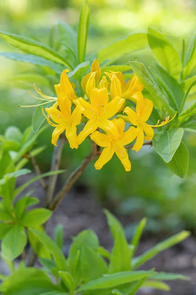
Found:
<path fill-rule="evenodd" d="M 48 59 L 37 57 L 32 54 L 21 54 L 16 52 L 0 52 L 0 56 L 6 59 L 27 62 L 27 63 L 39 65 L 39 66 L 40 65 L 49 66 L 52 70 L 54 70 L 56 73 L 59 73 L 59 74 L 62 72 L 60 64 L 52 62 Z"/>

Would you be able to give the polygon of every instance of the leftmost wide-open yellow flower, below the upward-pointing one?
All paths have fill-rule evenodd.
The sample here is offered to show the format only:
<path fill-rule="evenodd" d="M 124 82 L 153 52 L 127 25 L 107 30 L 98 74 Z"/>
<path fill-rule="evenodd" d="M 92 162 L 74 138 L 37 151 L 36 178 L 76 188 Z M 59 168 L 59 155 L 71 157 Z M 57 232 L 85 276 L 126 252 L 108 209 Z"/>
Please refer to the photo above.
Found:
<path fill-rule="evenodd" d="M 59 106 L 60 111 L 57 109 Z M 70 148 L 78 148 L 76 126 L 81 122 L 83 108 L 81 105 L 76 106 L 71 114 L 72 102 L 66 93 L 60 92 L 57 97 L 57 102 L 50 108 L 46 108 L 48 123 L 56 127 L 52 133 L 51 143 L 56 146 L 57 140 L 61 133 L 66 130 L 66 137 L 69 141 Z M 43 110 L 42 110 L 43 111 Z M 44 111 L 43 111 L 44 113 Z M 56 123 L 50 121 L 50 118 Z"/>

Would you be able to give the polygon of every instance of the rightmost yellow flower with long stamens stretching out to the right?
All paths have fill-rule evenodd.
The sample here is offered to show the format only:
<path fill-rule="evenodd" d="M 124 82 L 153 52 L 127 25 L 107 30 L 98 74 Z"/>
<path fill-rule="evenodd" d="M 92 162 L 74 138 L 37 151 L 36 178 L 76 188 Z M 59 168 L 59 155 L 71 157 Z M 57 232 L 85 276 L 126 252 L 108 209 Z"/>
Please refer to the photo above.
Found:
<path fill-rule="evenodd" d="M 176 113 L 171 120 L 169 120 L 170 117 L 168 117 L 161 124 L 159 124 L 158 121 L 157 125 L 149 125 L 146 123 L 146 121 L 152 113 L 153 102 L 148 98 L 143 98 L 143 94 L 141 92 L 137 92 L 134 96 L 137 100 L 136 112 L 133 111 L 131 108 L 126 107 L 123 113 L 126 113 L 126 115 L 128 116 L 128 120 L 134 126 L 137 126 L 137 140 L 132 149 L 138 151 L 142 148 L 144 140 L 150 141 L 153 138 L 154 130 L 152 129 L 152 127 L 161 127 L 167 124 L 176 116 Z M 144 133 L 146 134 L 146 136 L 144 136 Z"/>

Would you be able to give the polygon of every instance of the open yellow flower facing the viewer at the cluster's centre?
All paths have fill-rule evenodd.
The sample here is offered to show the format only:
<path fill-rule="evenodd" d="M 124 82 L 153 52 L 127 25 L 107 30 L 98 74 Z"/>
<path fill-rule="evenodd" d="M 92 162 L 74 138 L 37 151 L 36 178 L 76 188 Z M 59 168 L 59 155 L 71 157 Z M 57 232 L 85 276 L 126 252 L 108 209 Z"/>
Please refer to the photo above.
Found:
<path fill-rule="evenodd" d="M 78 135 L 79 144 L 81 144 L 85 138 L 97 128 L 110 133 L 114 138 L 118 138 L 118 128 L 114 122 L 109 120 L 109 118 L 113 117 L 119 111 L 123 105 L 124 99 L 116 97 L 110 102 L 108 102 L 108 100 L 109 98 L 106 88 L 94 88 L 91 90 L 90 94 L 91 103 L 81 97 L 73 101 L 76 105 L 83 107 L 82 113 L 89 119 L 84 129 Z"/>

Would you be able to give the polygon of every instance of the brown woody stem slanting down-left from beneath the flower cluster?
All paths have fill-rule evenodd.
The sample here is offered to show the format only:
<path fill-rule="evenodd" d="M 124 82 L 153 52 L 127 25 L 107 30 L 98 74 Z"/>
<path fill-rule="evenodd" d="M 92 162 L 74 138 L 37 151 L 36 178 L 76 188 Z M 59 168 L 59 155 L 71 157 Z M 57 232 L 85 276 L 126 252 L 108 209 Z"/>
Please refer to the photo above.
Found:
<path fill-rule="evenodd" d="M 51 210 L 55 210 L 56 207 L 59 206 L 61 201 L 63 200 L 64 196 L 69 192 L 69 190 L 72 188 L 75 181 L 80 177 L 82 172 L 85 170 L 85 168 L 88 166 L 88 164 L 98 155 L 93 154 L 92 152 L 83 160 L 83 162 L 73 171 L 73 173 L 68 177 L 66 183 L 64 186 L 60 189 L 60 191 L 57 193 L 57 195 L 54 198 L 54 201 L 50 205 Z"/>

